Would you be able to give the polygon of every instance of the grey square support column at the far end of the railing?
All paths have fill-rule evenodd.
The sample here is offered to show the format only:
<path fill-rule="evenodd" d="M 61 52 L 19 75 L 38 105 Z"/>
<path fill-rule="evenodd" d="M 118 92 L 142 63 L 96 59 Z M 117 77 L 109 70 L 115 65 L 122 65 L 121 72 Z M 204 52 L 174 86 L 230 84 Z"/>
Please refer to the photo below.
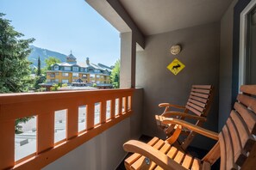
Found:
<path fill-rule="evenodd" d="M 135 88 L 136 43 L 132 32 L 121 33 L 120 88 Z"/>

